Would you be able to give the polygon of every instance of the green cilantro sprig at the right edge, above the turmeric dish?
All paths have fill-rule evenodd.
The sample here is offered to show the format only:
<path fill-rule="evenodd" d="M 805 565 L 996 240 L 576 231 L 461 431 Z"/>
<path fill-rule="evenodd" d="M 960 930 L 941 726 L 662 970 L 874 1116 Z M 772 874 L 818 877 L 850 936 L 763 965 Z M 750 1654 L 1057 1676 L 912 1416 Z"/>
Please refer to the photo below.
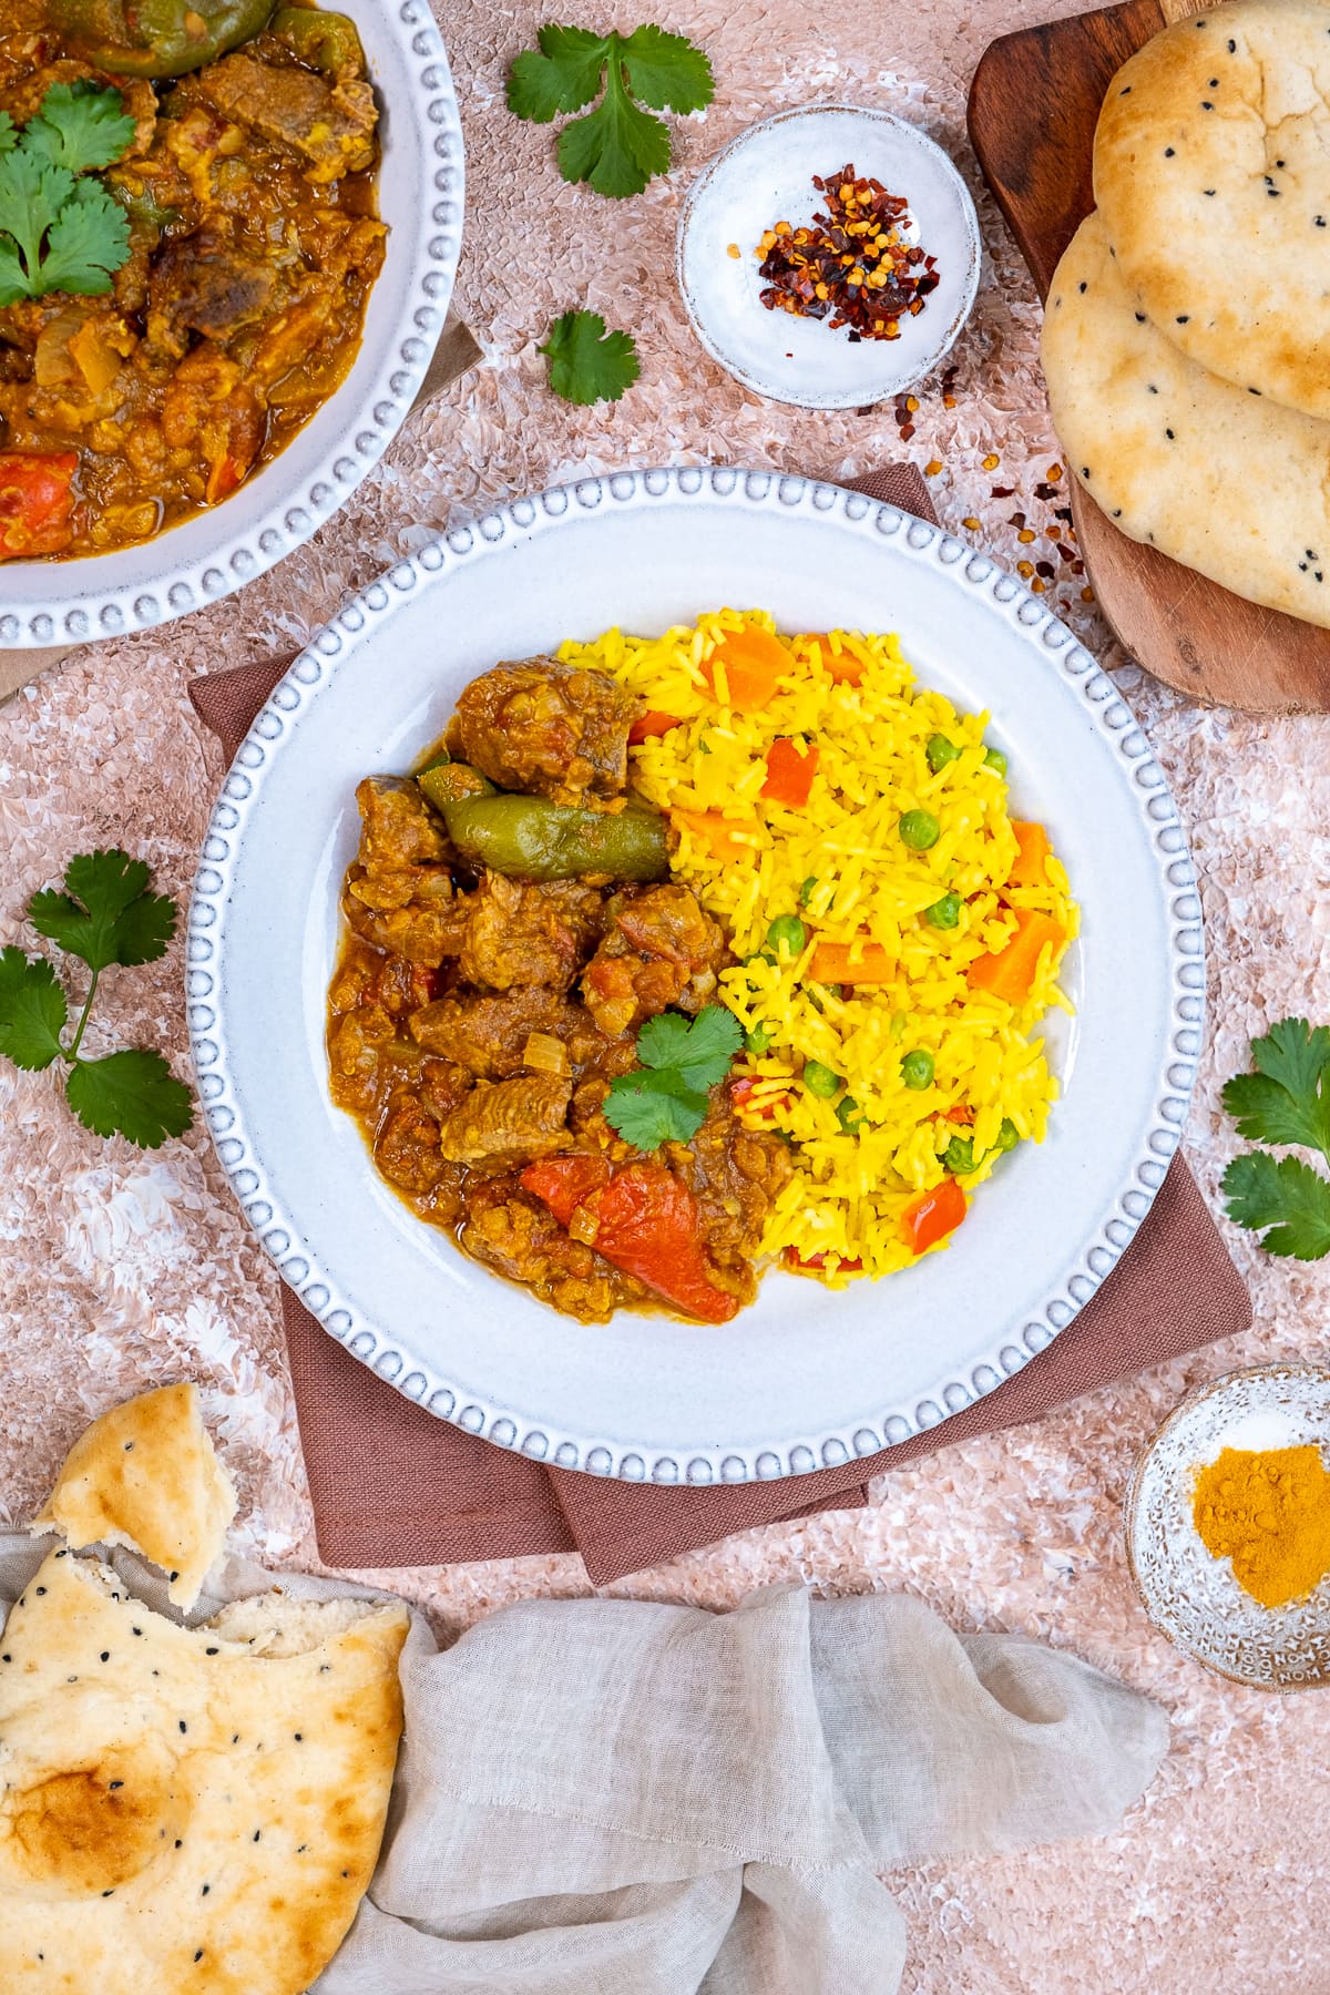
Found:
<path fill-rule="evenodd" d="M 1256 1143 L 1318 1151 L 1330 1165 L 1330 1027 L 1286 1017 L 1252 1039 L 1254 1073 L 1234 1073 L 1222 1101 Z M 1228 1217 L 1262 1233 L 1266 1253 L 1320 1261 L 1330 1253 L 1330 1179 L 1302 1157 L 1248 1149 L 1222 1177 Z"/>

